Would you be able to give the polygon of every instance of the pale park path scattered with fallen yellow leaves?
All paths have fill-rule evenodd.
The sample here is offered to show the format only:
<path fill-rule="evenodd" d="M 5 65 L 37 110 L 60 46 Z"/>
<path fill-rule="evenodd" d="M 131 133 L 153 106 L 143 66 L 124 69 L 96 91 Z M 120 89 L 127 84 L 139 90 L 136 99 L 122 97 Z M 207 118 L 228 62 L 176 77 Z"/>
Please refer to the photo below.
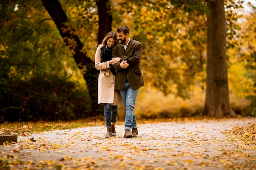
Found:
<path fill-rule="evenodd" d="M 256 146 L 224 134 L 256 118 L 138 124 L 136 138 L 105 139 L 102 126 L 18 136 L 0 146 L 10 170 L 256 170 Z M 12 162 L 11 162 L 12 161 Z M 8 169 L 8 168 L 7 168 Z"/>

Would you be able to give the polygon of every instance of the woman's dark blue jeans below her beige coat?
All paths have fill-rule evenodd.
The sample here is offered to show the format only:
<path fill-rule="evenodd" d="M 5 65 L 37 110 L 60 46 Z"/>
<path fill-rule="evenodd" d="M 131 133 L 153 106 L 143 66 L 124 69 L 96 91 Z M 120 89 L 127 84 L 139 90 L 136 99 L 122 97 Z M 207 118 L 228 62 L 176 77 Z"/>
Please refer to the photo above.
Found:
<path fill-rule="evenodd" d="M 117 106 L 104 103 L 104 115 L 106 121 L 106 127 L 111 127 L 111 122 L 116 123 L 117 121 Z"/>

